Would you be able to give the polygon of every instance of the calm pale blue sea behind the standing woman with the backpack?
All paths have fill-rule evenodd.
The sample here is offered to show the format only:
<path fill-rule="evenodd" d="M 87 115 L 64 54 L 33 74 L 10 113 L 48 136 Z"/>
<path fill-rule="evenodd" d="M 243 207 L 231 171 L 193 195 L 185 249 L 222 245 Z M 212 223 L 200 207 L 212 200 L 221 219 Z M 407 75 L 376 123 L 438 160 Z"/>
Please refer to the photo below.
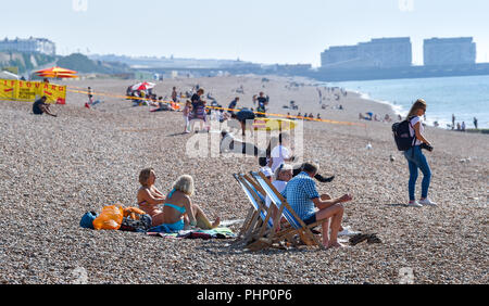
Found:
<path fill-rule="evenodd" d="M 412 103 L 423 98 L 428 104 L 426 123 L 440 124 L 446 128 L 452 123 L 465 122 L 467 128 L 474 128 L 474 117 L 479 128 L 489 128 L 489 76 L 464 76 L 441 78 L 413 78 L 330 82 L 352 91 L 361 92 L 365 98 L 386 102 L 401 115 L 406 115 Z"/>

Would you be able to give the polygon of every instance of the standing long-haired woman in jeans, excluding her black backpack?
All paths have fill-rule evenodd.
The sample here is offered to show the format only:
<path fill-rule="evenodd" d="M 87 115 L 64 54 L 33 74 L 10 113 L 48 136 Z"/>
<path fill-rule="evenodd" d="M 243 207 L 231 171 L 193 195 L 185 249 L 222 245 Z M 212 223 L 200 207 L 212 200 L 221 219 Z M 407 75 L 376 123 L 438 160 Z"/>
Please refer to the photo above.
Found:
<path fill-rule="evenodd" d="M 408 165 L 410 169 L 410 180 L 408 184 L 410 202 L 408 206 L 422 207 L 424 205 L 436 206 L 437 204 L 428 199 L 429 183 L 431 181 L 431 169 L 428 165 L 426 156 L 422 152 L 422 146 L 427 148 L 429 151 L 432 150 L 430 142 L 424 137 L 424 126 L 421 123 L 421 116 L 425 114 L 427 104 L 425 100 L 418 99 L 414 102 L 408 114 L 408 120 L 410 122 L 410 133 L 414 137 L 414 145 L 404 151 L 404 157 L 408 160 Z M 422 196 L 419 201 L 415 200 L 415 187 L 418 176 L 418 169 L 423 173 L 422 182 Z"/>

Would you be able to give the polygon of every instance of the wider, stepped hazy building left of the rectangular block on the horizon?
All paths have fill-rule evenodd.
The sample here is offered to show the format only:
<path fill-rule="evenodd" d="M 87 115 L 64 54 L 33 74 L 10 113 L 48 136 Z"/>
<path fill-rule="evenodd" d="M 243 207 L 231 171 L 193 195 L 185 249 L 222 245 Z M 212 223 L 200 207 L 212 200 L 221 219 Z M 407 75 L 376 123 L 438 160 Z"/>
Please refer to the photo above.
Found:
<path fill-rule="evenodd" d="M 391 68 L 412 65 L 409 37 L 377 38 L 355 46 L 330 47 L 321 53 L 323 68 Z"/>

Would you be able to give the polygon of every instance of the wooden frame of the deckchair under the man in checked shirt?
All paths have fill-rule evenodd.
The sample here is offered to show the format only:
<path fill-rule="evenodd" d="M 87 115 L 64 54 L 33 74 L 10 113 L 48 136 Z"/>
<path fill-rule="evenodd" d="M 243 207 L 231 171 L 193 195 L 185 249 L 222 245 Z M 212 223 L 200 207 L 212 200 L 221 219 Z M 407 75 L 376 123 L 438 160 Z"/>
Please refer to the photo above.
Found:
<path fill-rule="evenodd" d="M 256 183 L 259 186 L 261 186 L 261 183 L 260 183 L 259 180 L 256 180 L 256 176 L 260 176 L 260 178 L 262 178 L 262 180 L 267 184 L 269 190 L 272 190 L 274 192 L 274 195 L 280 200 L 281 205 L 279 205 L 278 203 L 275 203 L 275 201 L 273 200 L 273 196 L 271 196 L 267 193 L 266 189 L 261 186 L 262 187 L 261 190 L 263 190 L 265 192 L 265 194 L 268 194 L 268 196 L 272 200 L 272 203 L 278 208 L 278 217 L 279 218 L 285 217 L 287 219 L 287 222 L 290 225 L 290 228 L 280 230 L 279 232 L 275 233 L 276 226 L 278 225 L 279 219 L 278 219 L 278 221 L 274 220 L 274 228 L 273 228 L 272 233 L 271 233 L 272 235 L 275 235 L 274 240 L 278 240 L 279 241 L 279 240 L 283 240 L 284 238 L 290 237 L 290 234 L 296 234 L 297 233 L 297 234 L 300 235 L 301 240 L 306 245 L 317 245 L 322 250 L 325 248 L 324 245 L 312 233 L 311 229 L 316 227 L 316 226 L 323 225 L 325 221 L 328 220 L 327 218 L 318 220 L 318 221 L 316 221 L 314 224 L 311 224 L 311 225 L 306 226 L 304 224 L 304 221 L 301 218 L 299 218 L 299 216 L 296 214 L 296 212 L 290 207 L 290 204 L 287 202 L 287 200 L 277 191 L 277 189 L 269 182 L 269 180 L 262 173 L 253 173 L 253 171 L 251 171 L 250 175 L 251 175 L 251 177 L 255 178 L 255 181 L 256 181 Z M 287 208 L 287 211 L 292 215 L 292 217 L 296 219 L 296 221 L 299 224 L 299 226 L 294 226 L 293 224 L 291 224 L 288 220 L 287 216 L 284 215 L 284 208 Z M 325 233 L 323 233 L 323 234 L 325 234 Z"/>

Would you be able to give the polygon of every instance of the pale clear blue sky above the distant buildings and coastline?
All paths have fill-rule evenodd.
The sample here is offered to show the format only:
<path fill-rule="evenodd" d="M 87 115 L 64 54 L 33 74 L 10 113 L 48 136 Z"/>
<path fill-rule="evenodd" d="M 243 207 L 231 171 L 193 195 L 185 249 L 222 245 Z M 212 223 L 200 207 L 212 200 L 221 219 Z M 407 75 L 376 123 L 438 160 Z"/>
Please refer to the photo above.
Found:
<path fill-rule="evenodd" d="M 372 38 L 474 37 L 489 62 L 488 0 L 16 0 L 0 39 L 43 37 L 57 53 L 321 65 L 321 52 Z"/>

